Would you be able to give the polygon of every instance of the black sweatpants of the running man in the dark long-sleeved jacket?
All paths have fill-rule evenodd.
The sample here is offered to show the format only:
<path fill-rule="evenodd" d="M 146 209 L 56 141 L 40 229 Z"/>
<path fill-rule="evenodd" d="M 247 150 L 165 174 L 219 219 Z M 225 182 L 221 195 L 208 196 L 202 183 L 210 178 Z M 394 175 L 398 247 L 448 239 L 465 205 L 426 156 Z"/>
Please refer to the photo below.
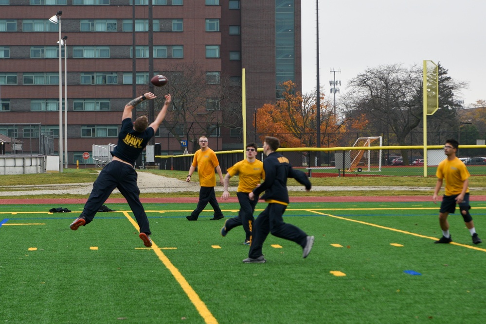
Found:
<path fill-rule="evenodd" d="M 269 233 L 282 239 L 288 239 L 303 248 L 307 243 L 307 234 L 299 227 L 284 222 L 282 215 L 287 209 L 286 205 L 271 203 L 258 215 L 253 226 L 253 240 L 248 256 L 256 259 L 263 256 L 263 242 Z"/>

